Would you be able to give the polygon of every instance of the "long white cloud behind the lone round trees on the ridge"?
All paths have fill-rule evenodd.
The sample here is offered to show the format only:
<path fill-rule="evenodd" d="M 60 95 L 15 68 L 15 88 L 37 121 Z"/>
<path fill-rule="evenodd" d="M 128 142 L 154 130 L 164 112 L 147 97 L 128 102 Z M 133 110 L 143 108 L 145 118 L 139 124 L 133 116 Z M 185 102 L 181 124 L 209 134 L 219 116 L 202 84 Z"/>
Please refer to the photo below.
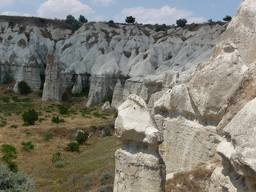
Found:
<path fill-rule="evenodd" d="M 205 22 L 205 18 L 195 18 L 194 14 L 188 10 L 178 10 L 170 6 L 163 6 L 161 9 L 149 8 L 142 6 L 123 9 L 120 14 L 114 16 L 114 22 L 125 22 L 126 16 L 133 16 L 138 23 L 150 24 L 175 24 L 176 20 L 186 18 L 190 22 Z"/>

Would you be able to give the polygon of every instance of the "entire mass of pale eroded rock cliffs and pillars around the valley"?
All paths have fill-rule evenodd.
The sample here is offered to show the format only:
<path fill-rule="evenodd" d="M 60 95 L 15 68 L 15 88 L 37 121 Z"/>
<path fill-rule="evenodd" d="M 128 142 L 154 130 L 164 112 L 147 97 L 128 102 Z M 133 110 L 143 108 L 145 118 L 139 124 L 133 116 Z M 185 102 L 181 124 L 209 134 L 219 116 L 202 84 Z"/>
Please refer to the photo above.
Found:
<path fill-rule="evenodd" d="M 8 71 L 38 90 L 46 71 L 43 100 L 61 102 L 67 87 L 73 93 L 90 87 L 86 106 L 103 98 L 120 106 L 115 191 L 161 191 L 165 166 L 173 174 L 215 158 L 222 166 L 209 191 L 254 191 L 255 7 L 244 0 L 230 23 L 162 31 L 0 22 L 1 79 Z M 154 185 L 148 189 L 147 179 Z"/>

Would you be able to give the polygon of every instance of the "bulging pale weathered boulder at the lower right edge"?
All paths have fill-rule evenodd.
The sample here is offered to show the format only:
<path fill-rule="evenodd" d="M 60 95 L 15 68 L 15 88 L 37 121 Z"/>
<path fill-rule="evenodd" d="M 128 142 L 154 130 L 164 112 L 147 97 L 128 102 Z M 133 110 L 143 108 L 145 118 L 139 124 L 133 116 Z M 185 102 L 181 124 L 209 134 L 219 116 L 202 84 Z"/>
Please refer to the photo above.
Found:
<path fill-rule="evenodd" d="M 255 109 L 256 99 L 247 103 L 234 116 L 224 128 L 226 139 L 217 148 L 222 158 L 229 162 L 230 170 L 245 178 L 246 182 L 242 184 L 251 192 L 256 190 Z"/>

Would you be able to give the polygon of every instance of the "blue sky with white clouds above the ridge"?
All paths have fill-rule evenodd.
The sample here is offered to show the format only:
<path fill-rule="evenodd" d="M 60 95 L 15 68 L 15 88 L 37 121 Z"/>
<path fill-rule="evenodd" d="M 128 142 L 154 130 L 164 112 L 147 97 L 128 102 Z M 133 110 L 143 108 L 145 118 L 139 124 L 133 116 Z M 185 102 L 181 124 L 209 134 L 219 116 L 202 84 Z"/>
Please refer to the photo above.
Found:
<path fill-rule="evenodd" d="M 0 0 L 0 14 L 65 19 L 80 14 L 89 22 L 124 23 L 127 16 L 143 24 L 172 25 L 180 18 L 188 23 L 234 16 L 242 0 Z"/>

